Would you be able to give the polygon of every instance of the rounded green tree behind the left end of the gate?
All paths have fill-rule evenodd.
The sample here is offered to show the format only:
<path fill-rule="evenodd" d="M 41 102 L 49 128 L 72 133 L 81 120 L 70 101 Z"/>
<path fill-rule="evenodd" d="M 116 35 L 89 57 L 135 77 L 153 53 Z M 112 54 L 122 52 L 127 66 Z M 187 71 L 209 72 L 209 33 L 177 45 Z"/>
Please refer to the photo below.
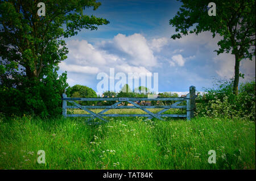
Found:
<path fill-rule="evenodd" d="M 93 89 L 87 86 L 81 86 L 81 85 L 68 87 L 66 94 L 68 97 L 71 97 L 71 98 L 97 98 L 97 94 Z M 96 101 L 76 101 L 76 102 L 82 106 L 97 104 Z M 72 105 L 72 104 L 69 103 L 69 105 Z"/>

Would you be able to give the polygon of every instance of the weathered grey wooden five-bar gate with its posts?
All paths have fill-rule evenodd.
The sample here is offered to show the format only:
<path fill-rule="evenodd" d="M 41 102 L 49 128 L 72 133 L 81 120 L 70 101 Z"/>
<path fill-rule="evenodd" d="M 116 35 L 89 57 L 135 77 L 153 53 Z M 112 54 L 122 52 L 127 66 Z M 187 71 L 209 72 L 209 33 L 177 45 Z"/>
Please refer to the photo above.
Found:
<path fill-rule="evenodd" d="M 108 122 L 104 117 L 148 117 L 148 119 L 152 119 L 153 117 L 163 120 L 161 117 L 187 117 L 187 120 L 191 120 L 194 116 L 194 111 L 196 110 L 196 87 L 190 86 L 189 87 L 189 94 L 187 94 L 184 98 L 67 98 L 66 94 L 63 94 L 63 116 L 64 117 L 92 117 L 101 119 L 105 122 Z M 115 103 L 111 106 L 81 106 L 80 104 L 76 103 L 75 100 L 80 101 L 115 101 Z M 160 100 L 160 101 L 177 101 L 170 106 L 140 106 L 134 101 L 141 100 L 141 101 L 153 101 L 153 100 Z M 187 103 L 186 106 L 179 106 L 180 103 L 185 101 Z M 67 106 L 67 102 L 72 103 L 73 106 Z M 122 102 L 128 102 L 133 104 L 133 106 L 118 106 Z M 68 108 L 80 108 L 88 112 L 89 114 L 67 114 Z M 110 109 L 126 109 L 126 108 L 139 108 L 142 111 L 146 112 L 146 114 L 105 114 L 105 112 L 109 111 Z M 163 108 L 163 110 L 152 113 L 147 110 L 147 108 Z M 167 110 L 171 108 L 180 108 L 186 109 L 187 114 L 180 115 L 180 114 L 163 114 Z M 94 113 L 89 109 L 104 109 L 99 113 Z"/>

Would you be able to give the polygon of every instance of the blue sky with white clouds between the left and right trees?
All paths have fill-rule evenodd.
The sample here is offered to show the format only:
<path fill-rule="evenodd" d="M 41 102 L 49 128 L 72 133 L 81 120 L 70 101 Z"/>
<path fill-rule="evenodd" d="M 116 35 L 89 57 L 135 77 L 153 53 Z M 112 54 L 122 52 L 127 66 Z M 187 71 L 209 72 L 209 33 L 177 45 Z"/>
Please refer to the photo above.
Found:
<path fill-rule="evenodd" d="M 96 10 L 85 14 L 106 18 L 108 25 L 97 31 L 82 30 L 66 39 L 69 54 L 61 62 L 60 71 L 68 71 L 70 86 L 80 84 L 97 92 L 97 74 L 109 69 L 115 73 L 158 73 L 158 91 L 197 91 L 211 87 L 213 78 L 229 79 L 234 74 L 234 56 L 213 52 L 220 36 L 212 39 L 210 32 L 170 39 L 175 28 L 169 20 L 175 16 L 177 1 L 100 1 Z M 243 60 L 241 72 L 246 81 L 255 77 L 253 61 Z M 116 80 L 115 82 L 117 82 Z M 118 91 L 118 90 L 115 90 Z"/>

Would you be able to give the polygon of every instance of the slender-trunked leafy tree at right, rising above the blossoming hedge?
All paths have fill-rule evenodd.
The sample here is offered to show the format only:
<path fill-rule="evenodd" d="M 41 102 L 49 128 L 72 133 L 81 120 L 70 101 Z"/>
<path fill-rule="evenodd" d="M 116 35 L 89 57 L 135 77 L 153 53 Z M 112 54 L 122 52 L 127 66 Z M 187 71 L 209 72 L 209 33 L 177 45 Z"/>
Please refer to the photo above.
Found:
<path fill-rule="evenodd" d="M 235 56 L 233 92 L 238 94 L 240 61 L 255 56 L 255 0 L 216 0 L 216 16 L 208 15 L 213 12 L 213 6 L 208 7 L 211 0 L 177 0 L 183 2 L 177 15 L 170 19 L 170 24 L 179 32 L 172 39 L 180 38 L 188 33 L 198 35 L 203 31 L 212 32 L 214 37 L 223 37 L 218 41 L 217 54 L 231 52 Z M 211 13 L 210 13 L 211 14 Z M 193 30 L 191 30 L 191 27 Z"/>

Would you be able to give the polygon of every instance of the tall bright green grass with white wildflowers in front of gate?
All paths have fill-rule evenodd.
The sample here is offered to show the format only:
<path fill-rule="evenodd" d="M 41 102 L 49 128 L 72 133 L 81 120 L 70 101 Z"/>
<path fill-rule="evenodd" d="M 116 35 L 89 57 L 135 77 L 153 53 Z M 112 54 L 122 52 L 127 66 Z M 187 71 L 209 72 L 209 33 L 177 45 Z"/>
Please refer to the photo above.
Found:
<path fill-rule="evenodd" d="M 240 119 L 1 120 L 0 169 L 255 169 L 255 122 Z M 46 151 L 46 164 L 37 162 Z M 216 151 L 216 164 L 208 151 Z"/>

